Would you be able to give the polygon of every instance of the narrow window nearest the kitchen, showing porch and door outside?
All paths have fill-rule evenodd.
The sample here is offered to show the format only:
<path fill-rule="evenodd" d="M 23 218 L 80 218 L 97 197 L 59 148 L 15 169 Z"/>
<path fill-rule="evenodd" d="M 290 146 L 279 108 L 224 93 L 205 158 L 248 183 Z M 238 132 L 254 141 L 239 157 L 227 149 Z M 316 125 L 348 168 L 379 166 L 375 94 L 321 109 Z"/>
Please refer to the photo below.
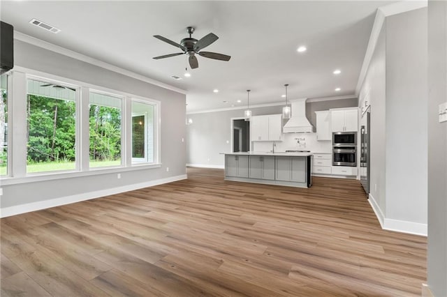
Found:
<path fill-rule="evenodd" d="M 155 105 L 132 100 L 132 164 L 155 160 Z"/>

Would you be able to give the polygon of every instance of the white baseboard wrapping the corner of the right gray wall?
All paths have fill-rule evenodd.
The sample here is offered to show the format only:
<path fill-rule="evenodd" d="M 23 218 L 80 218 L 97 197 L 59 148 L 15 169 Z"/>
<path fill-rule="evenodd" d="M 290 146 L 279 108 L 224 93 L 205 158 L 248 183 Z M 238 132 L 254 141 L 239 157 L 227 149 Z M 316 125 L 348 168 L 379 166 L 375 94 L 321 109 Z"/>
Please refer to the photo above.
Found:
<path fill-rule="evenodd" d="M 382 229 L 427 236 L 427 224 L 385 218 L 385 215 L 383 215 L 379 204 L 377 204 L 376 200 L 374 199 L 374 197 L 372 197 L 371 194 L 369 194 L 368 201 L 372 207 L 372 210 L 374 211 L 374 213 L 376 213 L 377 220 L 379 220 Z"/>

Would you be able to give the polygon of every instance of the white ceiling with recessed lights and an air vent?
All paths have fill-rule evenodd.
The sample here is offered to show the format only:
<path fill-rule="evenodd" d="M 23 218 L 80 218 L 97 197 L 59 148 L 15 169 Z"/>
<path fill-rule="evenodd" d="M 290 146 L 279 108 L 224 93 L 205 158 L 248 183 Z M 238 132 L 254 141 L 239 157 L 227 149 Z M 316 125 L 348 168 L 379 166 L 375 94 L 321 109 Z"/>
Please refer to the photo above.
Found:
<path fill-rule="evenodd" d="M 16 31 L 91 56 L 187 93 L 188 112 L 355 93 L 376 8 L 395 1 L 1 1 L 1 20 Z M 33 18 L 61 29 L 54 34 Z M 214 33 L 198 56 L 199 68 L 183 77 L 186 56 L 152 36 L 177 43 Z M 298 53 L 305 45 L 307 52 Z M 189 66 L 188 66 L 189 67 Z M 342 70 L 333 75 L 335 69 Z M 172 75 L 182 80 L 172 79 Z M 335 88 L 341 88 L 335 92 Z M 213 93 L 219 89 L 219 93 Z M 237 103 L 237 100 L 242 100 Z M 228 101 L 224 103 L 223 101 Z"/>

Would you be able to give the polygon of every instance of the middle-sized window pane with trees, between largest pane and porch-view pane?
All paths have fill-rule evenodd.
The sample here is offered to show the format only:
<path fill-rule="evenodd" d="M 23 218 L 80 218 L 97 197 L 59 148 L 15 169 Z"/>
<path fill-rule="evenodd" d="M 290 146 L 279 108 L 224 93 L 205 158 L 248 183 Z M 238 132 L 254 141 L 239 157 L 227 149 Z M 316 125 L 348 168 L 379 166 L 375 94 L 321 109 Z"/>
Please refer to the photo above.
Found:
<path fill-rule="evenodd" d="M 122 99 L 91 92 L 89 96 L 90 167 L 120 166 Z"/>

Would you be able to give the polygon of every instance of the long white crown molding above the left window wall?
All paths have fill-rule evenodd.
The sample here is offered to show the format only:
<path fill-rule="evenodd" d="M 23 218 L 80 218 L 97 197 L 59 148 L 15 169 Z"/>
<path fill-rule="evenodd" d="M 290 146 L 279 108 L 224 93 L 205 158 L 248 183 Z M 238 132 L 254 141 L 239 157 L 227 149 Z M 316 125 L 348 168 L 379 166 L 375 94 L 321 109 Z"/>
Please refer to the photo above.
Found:
<path fill-rule="evenodd" d="M 65 47 L 60 47 L 59 45 L 54 45 L 53 43 L 47 43 L 41 39 L 35 38 L 33 36 L 29 36 L 27 34 L 14 31 L 14 39 L 23 41 L 24 43 L 29 43 L 31 45 L 36 45 L 37 47 L 42 47 L 45 50 L 50 50 L 52 52 L 57 52 L 58 54 L 63 54 L 64 56 L 69 56 L 73 59 L 77 59 L 94 66 L 98 66 L 101 68 L 105 68 L 107 70 L 113 71 L 115 73 L 119 73 L 122 75 L 126 75 L 128 77 L 132 77 L 138 79 L 142 82 L 147 82 L 149 84 L 154 84 L 155 86 L 159 86 L 163 89 L 168 89 L 170 91 L 175 91 L 177 93 L 182 93 L 186 95 L 186 91 L 183 89 L 179 89 L 175 86 L 170 86 L 169 84 L 165 84 L 163 82 L 159 82 L 158 80 L 145 77 L 144 75 L 139 75 L 138 73 L 133 73 L 132 71 L 126 70 L 124 68 L 120 68 L 118 66 L 114 66 L 109 63 L 105 63 L 103 61 L 99 61 L 97 59 L 91 58 L 91 56 L 86 56 L 85 54 L 80 54 L 78 52 L 73 52 L 72 50 L 68 50 Z"/>

